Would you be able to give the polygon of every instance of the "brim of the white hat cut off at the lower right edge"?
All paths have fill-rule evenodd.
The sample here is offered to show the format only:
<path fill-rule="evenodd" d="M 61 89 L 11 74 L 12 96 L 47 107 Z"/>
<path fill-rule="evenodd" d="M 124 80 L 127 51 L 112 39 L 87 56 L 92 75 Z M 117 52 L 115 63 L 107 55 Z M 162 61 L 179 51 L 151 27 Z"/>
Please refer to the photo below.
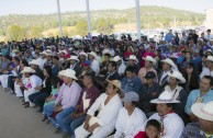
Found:
<path fill-rule="evenodd" d="M 202 108 L 205 104 L 204 103 L 195 103 L 191 106 L 191 112 L 198 116 L 199 118 L 213 122 L 213 115 L 205 114 Z"/>

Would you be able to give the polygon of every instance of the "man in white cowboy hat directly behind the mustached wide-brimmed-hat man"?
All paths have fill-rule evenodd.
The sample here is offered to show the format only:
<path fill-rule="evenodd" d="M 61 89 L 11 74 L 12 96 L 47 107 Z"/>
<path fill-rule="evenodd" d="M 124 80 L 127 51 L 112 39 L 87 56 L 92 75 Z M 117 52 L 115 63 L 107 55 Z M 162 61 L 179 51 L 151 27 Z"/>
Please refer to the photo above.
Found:
<path fill-rule="evenodd" d="M 162 91 L 168 91 L 172 93 L 173 99 L 180 101 L 176 105 L 175 112 L 183 119 L 184 123 L 189 120 L 188 116 L 184 113 L 184 106 L 187 103 L 188 93 L 184 88 L 180 87 L 180 83 L 186 83 L 186 79 L 179 71 L 172 71 L 168 73 L 169 83 L 166 85 Z"/>

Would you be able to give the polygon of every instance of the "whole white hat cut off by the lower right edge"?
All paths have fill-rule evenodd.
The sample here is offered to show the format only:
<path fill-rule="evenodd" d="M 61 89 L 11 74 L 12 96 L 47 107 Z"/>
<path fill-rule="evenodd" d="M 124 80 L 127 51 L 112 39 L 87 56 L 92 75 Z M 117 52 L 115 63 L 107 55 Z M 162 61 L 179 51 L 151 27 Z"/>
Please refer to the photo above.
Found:
<path fill-rule="evenodd" d="M 209 103 L 195 103 L 191 106 L 191 112 L 199 118 L 213 122 L 213 101 Z"/>

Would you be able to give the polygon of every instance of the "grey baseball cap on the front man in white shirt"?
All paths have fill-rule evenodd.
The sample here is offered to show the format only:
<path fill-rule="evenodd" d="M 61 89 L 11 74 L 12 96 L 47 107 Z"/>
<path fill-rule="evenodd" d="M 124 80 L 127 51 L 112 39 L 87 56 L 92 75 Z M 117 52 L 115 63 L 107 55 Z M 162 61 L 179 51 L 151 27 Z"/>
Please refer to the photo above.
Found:
<path fill-rule="evenodd" d="M 124 93 L 124 97 L 122 99 L 122 102 L 138 102 L 139 101 L 139 96 L 136 92 L 126 92 Z"/>

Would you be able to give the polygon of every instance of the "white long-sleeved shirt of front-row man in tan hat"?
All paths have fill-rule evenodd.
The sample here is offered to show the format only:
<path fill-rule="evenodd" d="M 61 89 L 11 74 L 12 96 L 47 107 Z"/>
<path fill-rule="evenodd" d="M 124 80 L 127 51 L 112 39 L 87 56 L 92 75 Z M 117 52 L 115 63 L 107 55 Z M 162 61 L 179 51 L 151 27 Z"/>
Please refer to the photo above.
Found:
<path fill-rule="evenodd" d="M 94 112 L 99 111 L 99 114 L 97 116 L 98 124 L 102 127 L 103 126 L 114 127 L 119 115 L 119 111 L 122 108 L 122 101 L 120 96 L 116 94 L 108 102 L 107 105 L 104 105 L 107 97 L 108 94 L 102 93 L 92 104 L 92 106 L 88 110 L 87 114 L 93 116 Z"/>

